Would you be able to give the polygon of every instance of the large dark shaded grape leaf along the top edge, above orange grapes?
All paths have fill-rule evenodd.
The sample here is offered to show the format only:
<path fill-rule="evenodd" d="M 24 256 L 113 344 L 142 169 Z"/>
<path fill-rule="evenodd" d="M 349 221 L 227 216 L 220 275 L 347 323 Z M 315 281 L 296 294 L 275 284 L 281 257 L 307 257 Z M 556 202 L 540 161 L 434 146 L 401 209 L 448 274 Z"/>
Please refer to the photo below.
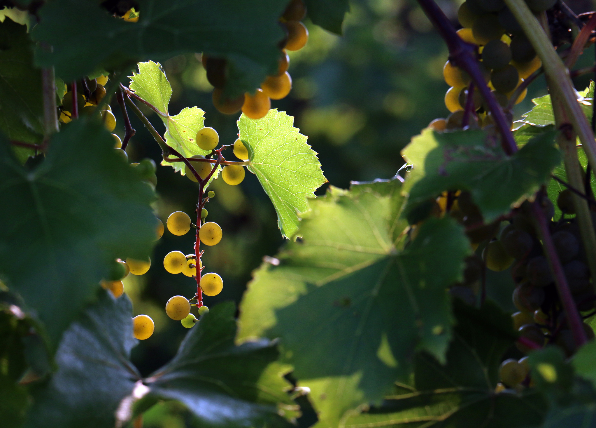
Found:
<path fill-rule="evenodd" d="M 110 16 L 94 0 L 54 0 L 39 9 L 39 24 L 32 31 L 36 41 L 53 49 L 36 50 L 36 60 L 54 66 L 64 81 L 72 81 L 101 67 L 119 69 L 138 61 L 206 51 L 226 57 L 231 70 L 242 70 L 240 79 L 226 84 L 228 94 L 238 96 L 254 91 L 277 70 L 278 44 L 284 39 L 278 19 L 286 4 L 284 0 L 139 0 L 139 21 L 131 23 Z"/>

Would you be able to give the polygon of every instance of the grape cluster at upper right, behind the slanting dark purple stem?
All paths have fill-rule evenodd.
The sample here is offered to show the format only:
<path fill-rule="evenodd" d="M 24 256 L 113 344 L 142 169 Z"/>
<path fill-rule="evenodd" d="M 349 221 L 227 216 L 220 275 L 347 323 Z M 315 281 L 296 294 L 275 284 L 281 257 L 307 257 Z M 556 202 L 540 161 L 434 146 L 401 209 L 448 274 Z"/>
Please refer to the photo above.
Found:
<path fill-rule="evenodd" d="M 554 0 L 527 0 L 536 13 L 551 8 L 554 3 Z M 517 87 L 542 65 L 532 44 L 502 0 L 467 0 L 458 10 L 458 20 L 463 26 L 458 35 L 477 46 L 480 70 L 498 103 L 507 107 Z M 430 123 L 436 131 L 462 127 L 471 82 L 470 75 L 451 60 L 443 67 L 443 77 L 450 86 L 445 94 L 445 106 L 451 114 Z M 527 90 L 522 91 L 514 104 L 520 103 L 526 93 Z M 492 125 L 491 113 L 480 91 L 474 88 L 470 96 L 474 114 L 468 125 L 480 128 Z M 508 110 L 505 115 L 513 117 Z"/>

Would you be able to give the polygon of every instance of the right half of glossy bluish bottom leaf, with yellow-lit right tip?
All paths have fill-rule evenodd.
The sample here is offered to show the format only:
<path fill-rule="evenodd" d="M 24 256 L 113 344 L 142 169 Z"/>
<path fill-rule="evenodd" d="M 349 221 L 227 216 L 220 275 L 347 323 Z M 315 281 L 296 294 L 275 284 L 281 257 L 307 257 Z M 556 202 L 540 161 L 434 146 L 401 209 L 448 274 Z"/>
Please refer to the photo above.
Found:
<path fill-rule="evenodd" d="M 287 368 L 275 362 L 277 344 L 235 346 L 234 312 L 235 304 L 225 302 L 204 315 L 172 361 L 145 380 L 151 388 L 145 400 L 181 401 L 202 427 L 290 427 L 280 415 L 292 402 Z"/>

